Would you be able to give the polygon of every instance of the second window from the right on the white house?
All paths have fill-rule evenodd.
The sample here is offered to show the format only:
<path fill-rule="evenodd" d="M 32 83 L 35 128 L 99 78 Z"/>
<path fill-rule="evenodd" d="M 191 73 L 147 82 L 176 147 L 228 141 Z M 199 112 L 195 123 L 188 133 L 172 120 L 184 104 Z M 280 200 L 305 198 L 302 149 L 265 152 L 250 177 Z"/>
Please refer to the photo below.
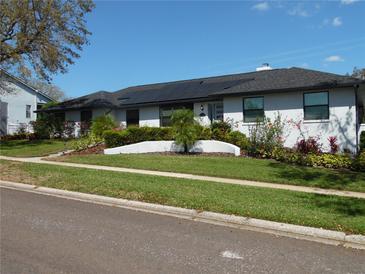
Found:
<path fill-rule="evenodd" d="M 243 99 L 243 121 L 245 123 L 262 121 L 264 116 L 264 97 Z"/>

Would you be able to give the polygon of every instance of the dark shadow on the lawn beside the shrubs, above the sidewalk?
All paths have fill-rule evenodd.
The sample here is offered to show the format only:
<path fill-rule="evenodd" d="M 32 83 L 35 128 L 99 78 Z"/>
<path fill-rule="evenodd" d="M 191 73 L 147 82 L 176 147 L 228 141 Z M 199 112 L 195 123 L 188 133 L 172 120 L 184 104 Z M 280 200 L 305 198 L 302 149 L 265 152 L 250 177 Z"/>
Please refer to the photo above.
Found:
<path fill-rule="evenodd" d="M 287 165 L 279 162 L 272 162 L 270 167 L 276 169 L 278 177 L 291 180 L 293 183 L 305 182 L 308 186 L 322 188 L 344 189 L 349 184 L 358 182 L 363 184 L 365 174 L 349 170 L 330 170 L 324 168 L 308 168 L 303 166 Z M 362 181 L 362 182 L 360 182 Z"/>

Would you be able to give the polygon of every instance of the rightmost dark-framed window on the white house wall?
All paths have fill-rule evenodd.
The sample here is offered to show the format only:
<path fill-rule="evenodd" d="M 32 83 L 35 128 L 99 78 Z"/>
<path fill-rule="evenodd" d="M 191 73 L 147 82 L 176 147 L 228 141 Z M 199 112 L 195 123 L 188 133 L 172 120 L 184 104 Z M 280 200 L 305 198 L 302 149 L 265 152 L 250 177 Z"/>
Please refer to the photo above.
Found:
<path fill-rule="evenodd" d="M 304 120 L 329 119 L 328 92 L 304 93 Z"/>

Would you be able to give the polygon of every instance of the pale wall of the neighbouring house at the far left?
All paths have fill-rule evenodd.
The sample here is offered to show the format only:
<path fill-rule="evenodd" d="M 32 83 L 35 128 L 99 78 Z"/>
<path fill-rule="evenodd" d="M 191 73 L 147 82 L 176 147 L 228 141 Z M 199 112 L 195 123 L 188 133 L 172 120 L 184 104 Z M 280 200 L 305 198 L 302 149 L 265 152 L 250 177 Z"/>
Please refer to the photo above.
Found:
<path fill-rule="evenodd" d="M 37 110 L 37 104 L 45 104 L 51 100 L 17 81 L 9 81 L 6 84 L 10 92 L 1 91 L 0 101 L 8 103 L 7 134 L 13 134 L 20 124 L 28 125 L 37 119 L 37 114 L 34 113 Z M 30 118 L 26 117 L 26 105 L 31 106 Z"/>

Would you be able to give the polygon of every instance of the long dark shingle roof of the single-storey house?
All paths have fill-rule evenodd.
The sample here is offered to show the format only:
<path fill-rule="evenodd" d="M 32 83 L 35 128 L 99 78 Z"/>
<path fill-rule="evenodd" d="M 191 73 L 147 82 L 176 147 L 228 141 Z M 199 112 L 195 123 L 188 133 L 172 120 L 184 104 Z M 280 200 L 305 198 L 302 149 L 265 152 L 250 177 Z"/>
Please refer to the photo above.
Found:
<path fill-rule="evenodd" d="M 294 67 L 134 86 L 113 93 L 102 91 L 63 102 L 58 108 L 119 108 L 208 100 L 227 95 L 344 87 L 356 83 L 361 81 L 349 76 Z"/>

